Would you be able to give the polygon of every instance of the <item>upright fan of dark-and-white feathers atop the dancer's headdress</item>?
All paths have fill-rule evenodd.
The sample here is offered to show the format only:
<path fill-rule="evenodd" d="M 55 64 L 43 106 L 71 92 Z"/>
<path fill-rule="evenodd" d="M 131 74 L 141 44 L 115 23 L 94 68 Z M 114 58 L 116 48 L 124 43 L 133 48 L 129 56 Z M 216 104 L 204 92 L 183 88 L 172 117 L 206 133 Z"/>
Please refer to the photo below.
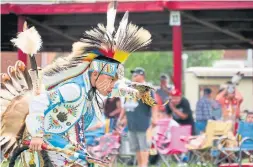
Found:
<path fill-rule="evenodd" d="M 131 52 L 150 44 L 149 31 L 128 23 L 128 12 L 123 16 L 117 31 L 114 28 L 117 2 L 108 6 L 107 26 L 98 24 L 97 28 L 85 31 L 79 50 L 95 52 L 123 63 Z"/>

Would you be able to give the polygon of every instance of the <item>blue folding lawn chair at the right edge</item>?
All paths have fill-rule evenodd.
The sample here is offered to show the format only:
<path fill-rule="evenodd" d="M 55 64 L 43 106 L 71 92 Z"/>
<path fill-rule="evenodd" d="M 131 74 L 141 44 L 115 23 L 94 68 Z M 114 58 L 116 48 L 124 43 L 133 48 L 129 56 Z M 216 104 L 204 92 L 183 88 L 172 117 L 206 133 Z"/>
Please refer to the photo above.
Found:
<path fill-rule="evenodd" d="M 219 141 L 219 143 L 222 142 L 235 144 L 220 144 L 219 151 L 223 153 L 223 157 L 216 160 L 216 164 L 221 163 L 224 159 L 228 159 L 230 161 L 230 165 L 234 162 L 234 165 L 237 164 L 237 166 L 245 166 L 245 163 L 242 165 L 242 160 L 243 157 L 246 156 L 249 158 L 251 166 L 253 166 L 253 123 L 240 122 L 237 138 L 225 138 Z M 226 164 L 223 164 L 223 166 L 224 165 Z M 249 163 L 247 165 L 249 165 Z"/>

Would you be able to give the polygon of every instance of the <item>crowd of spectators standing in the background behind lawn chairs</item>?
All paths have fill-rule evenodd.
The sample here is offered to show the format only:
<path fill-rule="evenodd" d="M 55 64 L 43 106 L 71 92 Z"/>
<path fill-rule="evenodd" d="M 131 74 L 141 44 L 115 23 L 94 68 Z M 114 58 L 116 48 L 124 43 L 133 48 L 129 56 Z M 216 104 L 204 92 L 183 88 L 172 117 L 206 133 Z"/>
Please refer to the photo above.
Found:
<path fill-rule="evenodd" d="M 131 73 L 133 82 L 146 83 L 143 68 L 137 67 Z M 210 88 L 205 88 L 193 112 L 187 98 L 170 84 L 166 74 L 162 74 L 160 87 L 151 92 L 158 104 L 156 107 L 150 107 L 141 100 L 113 98 L 105 102 L 105 115 L 110 119 L 109 129 L 114 129 L 119 124 L 126 126 L 131 151 L 136 153 L 138 166 L 147 167 L 151 147 L 149 138 L 152 136 L 149 131 L 156 126 L 158 120 L 170 119 L 170 127 L 191 125 L 192 135 L 204 133 L 208 120 L 231 120 L 236 129 L 243 101 L 241 94 L 235 87 L 231 90 L 220 89 L 214 99 L 212 93 Z M 253 113 L 247 112 L 246 121 L 252 122 L 252 118 Z"/>

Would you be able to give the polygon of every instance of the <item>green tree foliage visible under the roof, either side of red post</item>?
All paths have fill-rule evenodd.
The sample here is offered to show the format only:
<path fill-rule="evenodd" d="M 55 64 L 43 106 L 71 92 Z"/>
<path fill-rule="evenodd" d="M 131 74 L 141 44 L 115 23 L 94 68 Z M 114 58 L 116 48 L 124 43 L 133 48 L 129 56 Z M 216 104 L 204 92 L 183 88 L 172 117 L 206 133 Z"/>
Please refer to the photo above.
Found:
<path fill-rule="evenodd" d="M 190 51 L 188 54 L 187 67 L 212 66 L 216 60 L 220 60 L 223 51 Z M 125 62 L 126 77 L 130 78 L 130 71 L 135 67 L 142 67 L 147 71 L 147 80 L 158 84 L 161 73 L 173 72 L 172 52 L 136 52 Z"/>

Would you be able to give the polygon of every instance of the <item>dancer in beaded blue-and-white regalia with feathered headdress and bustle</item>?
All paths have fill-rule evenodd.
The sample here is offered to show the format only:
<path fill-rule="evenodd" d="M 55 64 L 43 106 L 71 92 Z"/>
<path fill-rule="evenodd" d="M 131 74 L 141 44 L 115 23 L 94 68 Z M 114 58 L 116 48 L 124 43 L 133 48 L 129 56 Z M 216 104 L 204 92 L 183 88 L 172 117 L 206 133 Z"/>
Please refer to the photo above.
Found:
<path fill-rule="evenodd" d="M 114 87 L 124 76 L 121 63 L 131 52 L 151 42 L 147 30 L 128 23 L 128 12 L 117 31 L 115 17 L 114 2 L 108 7 L 106 27 L 98 24 L 86 31 L 81 41 L 73 44 L 68 57 L 57 59 L 42 71 L 34 58 L 42 43 L 35 28 L 24 28 L 12 40 L 31 56 L 32 70 L 29 75 L 24 63 L 18 61 L 15 68 L 10 67 L 8 74 L 2 75 L 1 104 L 6 108 L 1 112 L 0 146 L 6 158 L 12 155 L 10 166 L 27 149 L 24 144 L 29 144 L 30 150 L 21 154 L 22 166 L 88 166 L 92 162 L 106 165 L 104 157 L 119 147 L 118 133 L 86 133 L 88 128 L 104 122 L 100 95 L 138 97 L 155 105 L 149 87 Z M 110 149 L 105 153 L 99 146 L 108 142 L 115 144 L 108 145 Z"/>

